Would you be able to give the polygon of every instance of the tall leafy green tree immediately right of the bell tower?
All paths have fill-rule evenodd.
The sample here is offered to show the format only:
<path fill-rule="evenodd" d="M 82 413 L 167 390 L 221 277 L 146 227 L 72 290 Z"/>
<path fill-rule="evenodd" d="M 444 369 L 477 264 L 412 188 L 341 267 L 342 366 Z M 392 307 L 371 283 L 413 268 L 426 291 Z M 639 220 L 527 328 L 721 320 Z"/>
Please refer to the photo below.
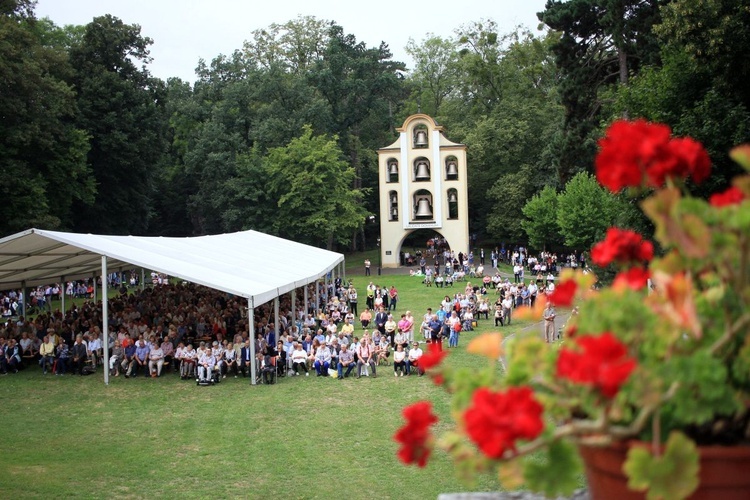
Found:
<path fill-rule="evenodd" d="M 549 151 L 562 123 L 549 49 L 556 35 L 494 29 L 478 23 L 459 32 L 461 85 L 444 106 L 446 125 L 469 147 L 470 230 L 520 241 L 521 208 L 557 184 Z"/>

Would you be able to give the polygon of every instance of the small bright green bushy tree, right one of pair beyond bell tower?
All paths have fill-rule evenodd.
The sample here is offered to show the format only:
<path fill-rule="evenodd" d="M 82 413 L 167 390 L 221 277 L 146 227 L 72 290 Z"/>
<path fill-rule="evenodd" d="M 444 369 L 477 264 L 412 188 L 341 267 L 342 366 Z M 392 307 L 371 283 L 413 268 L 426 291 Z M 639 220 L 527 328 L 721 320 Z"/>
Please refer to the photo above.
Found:
<path fill-rule="evenodd" d="M 557 197 L 560 235 L 569 248 L 590 250 L 604 239 L 607 228 L 619 225 L 627 210 L 627 205 L 601 187 L 594 176 L 579 172 Z"/>

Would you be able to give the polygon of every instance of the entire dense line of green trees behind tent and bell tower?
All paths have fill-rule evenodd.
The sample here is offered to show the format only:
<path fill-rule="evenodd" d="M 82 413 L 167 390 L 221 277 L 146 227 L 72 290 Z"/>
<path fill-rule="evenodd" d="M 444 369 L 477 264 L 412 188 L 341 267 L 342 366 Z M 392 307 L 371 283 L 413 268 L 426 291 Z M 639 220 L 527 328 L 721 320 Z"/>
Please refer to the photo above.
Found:
<path fill-rule="evenodd" d="M 618 117 L 701 140 L 719 175 L 696 189 L 724 187 L 727 149 L 750 140 L 745 2 L 549 0 L 539 19 L 537 34 L 482 20 L 411 40 L 407 69 L 299 17 L 198 61 L 191 84 L 150 74 L 138 25 L 59 27 L 0 0 L 0 233 L 257 229 L 362 248 L 375 151 L 417 111 L 469 146 L 470 230 L 487 244 L 648 230 L 585 174 Z"/>

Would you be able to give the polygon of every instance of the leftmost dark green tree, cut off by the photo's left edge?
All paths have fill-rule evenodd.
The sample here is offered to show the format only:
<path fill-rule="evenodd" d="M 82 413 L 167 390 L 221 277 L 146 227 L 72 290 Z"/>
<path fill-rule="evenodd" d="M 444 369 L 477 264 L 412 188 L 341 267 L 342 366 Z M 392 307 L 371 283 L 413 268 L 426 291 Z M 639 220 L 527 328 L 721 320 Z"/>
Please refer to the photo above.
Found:
<path fill-rule="evenodd" d="M 33 2 L 0 3 L 0 233 L 32 226 L 67 229 L 73 203 L 96 192 L 86 164 L 88 137 L 73 124 L 75 93 L 57 28 L 33 15 Z"/>

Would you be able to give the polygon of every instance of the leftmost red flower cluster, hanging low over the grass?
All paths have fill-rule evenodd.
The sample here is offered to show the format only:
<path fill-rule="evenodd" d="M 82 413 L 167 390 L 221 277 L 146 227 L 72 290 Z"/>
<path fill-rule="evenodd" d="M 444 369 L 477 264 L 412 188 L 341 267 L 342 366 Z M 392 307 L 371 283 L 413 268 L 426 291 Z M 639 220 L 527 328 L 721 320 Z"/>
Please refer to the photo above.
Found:
<path fill-rule="evenodd" d="M 429 401 L 419 401 L 404 408 L 402 414 L 406 424 L 393 436 L 397 443 L 401 443 L 398 458 L 407 465 L 416 463 L 417 466 L 424 467 L 432 452 L 429 427 L 438 421 L 432 414 L 432 404 Z"/>

